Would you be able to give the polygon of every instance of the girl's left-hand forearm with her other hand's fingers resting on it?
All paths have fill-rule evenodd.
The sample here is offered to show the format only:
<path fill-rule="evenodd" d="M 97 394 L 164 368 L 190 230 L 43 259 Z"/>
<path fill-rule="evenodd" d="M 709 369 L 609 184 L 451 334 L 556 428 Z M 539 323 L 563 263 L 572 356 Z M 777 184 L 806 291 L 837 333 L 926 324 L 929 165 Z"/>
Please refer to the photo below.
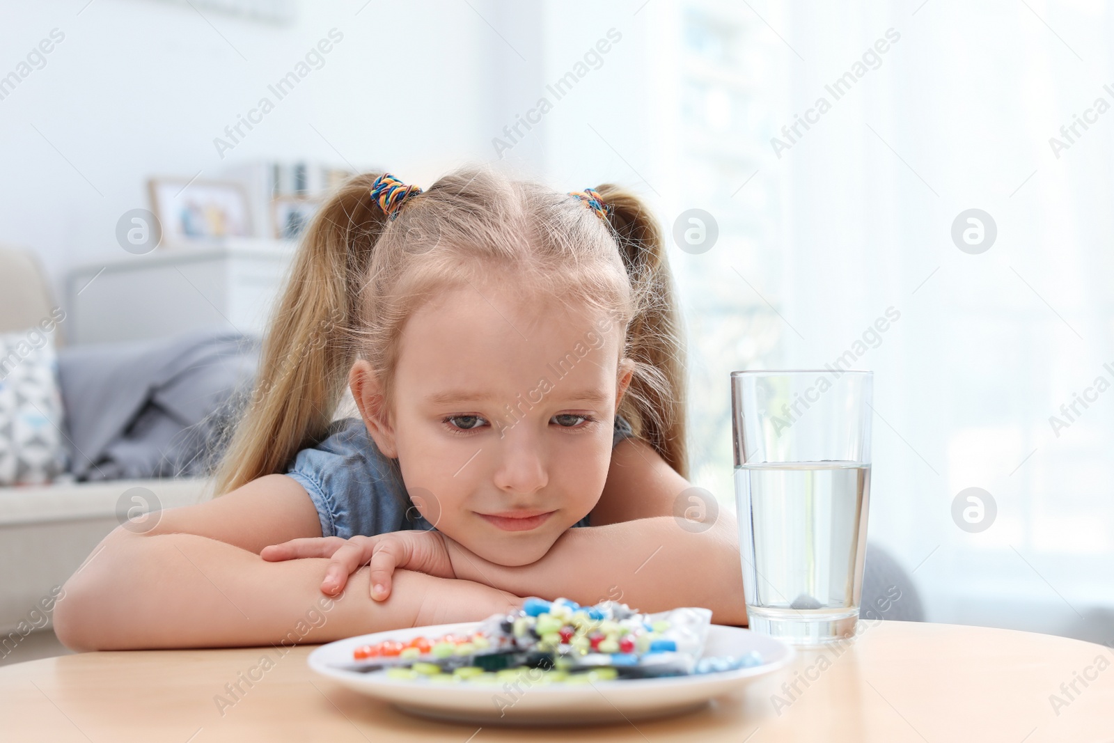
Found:
<path fill-rule="evenodd" d="M 399 571 L 385 602 L 368 570 L 331 598 L 325 559 L 267 563 L 187 534 L 115 532 L 63 586 L 55 630 L 75 649 L 294 645 L 441 622 L 481 619 L 516 597 L 465 580 Z"/>

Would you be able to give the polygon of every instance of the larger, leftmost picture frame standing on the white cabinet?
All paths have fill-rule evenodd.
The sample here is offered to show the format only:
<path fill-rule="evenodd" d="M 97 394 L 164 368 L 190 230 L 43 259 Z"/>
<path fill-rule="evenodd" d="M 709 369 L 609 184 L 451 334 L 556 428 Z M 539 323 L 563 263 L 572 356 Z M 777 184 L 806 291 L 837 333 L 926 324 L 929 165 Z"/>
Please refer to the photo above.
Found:
<path fill-rule="evenodd" d="M 236 180 L 150 178 L 147 188 L 164 244 L 254 235 L 247 189 Z"/>

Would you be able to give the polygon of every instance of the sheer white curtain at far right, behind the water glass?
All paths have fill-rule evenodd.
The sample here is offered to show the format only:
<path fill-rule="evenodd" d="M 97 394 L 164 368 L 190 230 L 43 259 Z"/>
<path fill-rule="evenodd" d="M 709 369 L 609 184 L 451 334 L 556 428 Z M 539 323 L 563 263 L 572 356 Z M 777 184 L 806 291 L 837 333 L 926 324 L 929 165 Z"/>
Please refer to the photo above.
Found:
<path fill-rule="evenodd" d="M 818 364 L 900 311 L 860 359 L 877 372 L 870 530 L 917 569 L 936 620 L 1114 639 L 1108 13 L 817 4 L 784 32 L 805 58 L 788 60 L 788 120 L 900 35 L 783 153 L 784 314 L 804 340 L 782 339 L 786 361 Z M 1092 123 L 1054 149 L 1075 115 Z M 997 228 L 978 254 L 952 239 L 970 208 Z M 1068 422 L 1075 393 L 1091 402 Z M 952 517 L 970 487 L 997 511 L 977 532 Z"/>

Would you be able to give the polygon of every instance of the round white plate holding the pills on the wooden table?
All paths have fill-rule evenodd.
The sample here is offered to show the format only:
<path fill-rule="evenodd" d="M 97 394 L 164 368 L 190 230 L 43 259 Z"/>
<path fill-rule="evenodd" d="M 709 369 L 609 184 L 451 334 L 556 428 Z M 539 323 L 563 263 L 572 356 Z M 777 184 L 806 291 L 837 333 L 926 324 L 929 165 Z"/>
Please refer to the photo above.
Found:
<path fill-rule="evenodd" d="M 375 696 L 403 712 L 440 720 L 483 724 L 553 725 L 623 722 L 691 712 L 713 697 L 734 692 L 759 676 L 781 668 L 794 656 L 793 648 L 779 639 L 749 629 L 712 625 L 704 656 L 762 654 L 764 663 L 753 668 L 665 678 L 603 681 L 586 685 L 520 683 L 502 684 L 430 683 L 388 678 L 385 672 L 360 673 L 342 667 L 352 664 L 360 645 L 384 639 L 409 641 L 423 635 L 469 634 L 478 622 L 412 627 L 350 637 L 322 645 L 310 654 L 310 667 L 349 688 Z"/>

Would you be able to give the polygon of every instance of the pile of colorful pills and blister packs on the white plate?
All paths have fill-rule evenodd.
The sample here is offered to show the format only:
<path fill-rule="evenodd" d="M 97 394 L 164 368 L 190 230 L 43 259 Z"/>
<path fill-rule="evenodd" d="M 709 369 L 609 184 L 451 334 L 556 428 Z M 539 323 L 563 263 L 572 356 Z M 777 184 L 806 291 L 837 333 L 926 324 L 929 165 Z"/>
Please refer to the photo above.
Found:
<path fill-rule="evenodd" d="M 701 657 L 711 616 L 703 608 L 646 615 L 616 602 L 583 607 L 527 598 L 521 609 L 494 615 L 468 634 L 360 646 L 353 669 L 430 683 L 580 684 L 762 664 L 758 653 Z"/>

